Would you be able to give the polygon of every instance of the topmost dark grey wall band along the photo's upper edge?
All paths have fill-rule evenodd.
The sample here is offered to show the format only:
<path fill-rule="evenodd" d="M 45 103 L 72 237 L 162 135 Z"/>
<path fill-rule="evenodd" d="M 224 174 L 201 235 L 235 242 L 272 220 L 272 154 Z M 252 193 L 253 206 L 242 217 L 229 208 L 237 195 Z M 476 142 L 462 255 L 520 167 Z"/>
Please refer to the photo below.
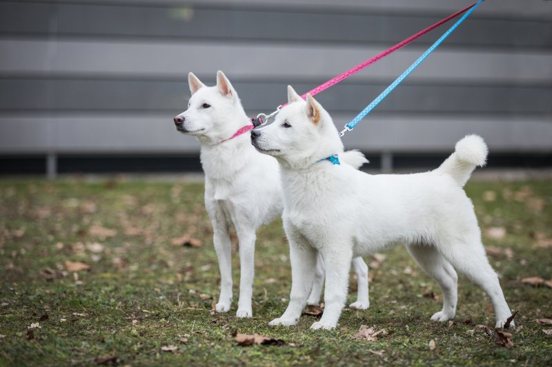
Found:
<path fill-rule="evenodd" d="M 424 14 L 359 14 L 247 8 L 175 8 L 59 3 L 0 3 L 0 32 L 48 34 L 55 22 L 59 36 L 123 36 L 257 41 L 396 43 L 435 23 L 441 16 Z M 549 48 L 552 22 L 477 19 L 447 39 L 450 45 L 493 45 Z M 308 20 L 308 21 L 307 21 Z M 418 40 L 433 43 L 440 32 Z"/>

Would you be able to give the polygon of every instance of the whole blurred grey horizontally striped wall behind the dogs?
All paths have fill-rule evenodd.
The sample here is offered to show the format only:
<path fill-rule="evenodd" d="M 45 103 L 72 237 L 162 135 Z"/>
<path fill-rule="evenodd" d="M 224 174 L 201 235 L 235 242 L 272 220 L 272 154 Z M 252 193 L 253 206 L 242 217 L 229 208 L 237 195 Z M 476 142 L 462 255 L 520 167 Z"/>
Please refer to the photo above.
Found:
<path fill-rule="evenodd" d="M 223 70 L 250 116 L 303 93 L 464 0 L 0 2 L 0 174 L 186 171 L 187 73 Z M 319 94 L 338 127 L 437 39 Z M 371 167 L 438 164 L 481 134 L 491 167 L 552 166 L 552 1 L 487 0 L 344 138 Z"/>

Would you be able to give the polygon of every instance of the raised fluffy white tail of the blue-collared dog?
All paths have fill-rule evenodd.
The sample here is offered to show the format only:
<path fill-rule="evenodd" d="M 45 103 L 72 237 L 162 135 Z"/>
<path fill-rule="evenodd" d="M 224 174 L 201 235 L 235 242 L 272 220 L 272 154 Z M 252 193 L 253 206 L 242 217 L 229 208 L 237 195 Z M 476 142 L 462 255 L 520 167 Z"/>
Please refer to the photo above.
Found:
<path fill-rule="evenodd" d="M 462 187 L 468 182 L 475 167 L 485 165 L 488 153 L 489 149 L 481 136 L 465 136 L 456 143 L 454 153 L 446 158 L 437 171 L 451 175 Z"/>

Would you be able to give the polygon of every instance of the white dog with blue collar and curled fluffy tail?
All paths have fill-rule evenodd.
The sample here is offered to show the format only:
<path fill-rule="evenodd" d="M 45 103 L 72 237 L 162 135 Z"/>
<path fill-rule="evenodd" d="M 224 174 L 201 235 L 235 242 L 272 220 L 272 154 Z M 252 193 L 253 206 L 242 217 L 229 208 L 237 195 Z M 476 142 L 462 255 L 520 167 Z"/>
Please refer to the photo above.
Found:
<path fill-rule="evenodd" d="M 326 309 L 311 328 L 334 328 L 347 294 L 351 258 L 405 244 L 443 292 L 445 321 L 456 312 L 457 275 L 464 273 L 491 297 L 496 326 L 511 315 L 489 265 L 471 200 L 462 187 L 487 147 L 479 136 L 460 140 L 437 169 L 423 174 L 371 176 L 326 157 L 343 144 L 329 114 L 311 96 L 288 87 L 290 105 L 273 124 L 251 133 L 253 145 L 282 168 L 284 229 L 290 244 L 292 286 L 288 308 L 271 325 L 297 323 L 313 281 L 316 251 L 326 264 Z"/>

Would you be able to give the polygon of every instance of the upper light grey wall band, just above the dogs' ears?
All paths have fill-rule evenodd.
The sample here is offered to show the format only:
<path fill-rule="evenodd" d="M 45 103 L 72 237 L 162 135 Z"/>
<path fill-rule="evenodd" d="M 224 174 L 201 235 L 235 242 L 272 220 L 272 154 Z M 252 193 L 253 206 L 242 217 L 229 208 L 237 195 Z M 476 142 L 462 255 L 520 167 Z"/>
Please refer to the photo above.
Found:
<path fill-rule="evenodd" d="M 180 79 L 189 71 L 213 78 L 220 69 L 230 79 L 278 78 L 286 83 L 312 81 L 318 85 L 384 48 L 0 39 L 0 50 L 1 74 Z M 352 80 L 391 82 L 422 52 L 423 48 L 409 46 L 359 72 Z M 437 50 L 408 80 L 551 85 L 552 50 Z"/>

